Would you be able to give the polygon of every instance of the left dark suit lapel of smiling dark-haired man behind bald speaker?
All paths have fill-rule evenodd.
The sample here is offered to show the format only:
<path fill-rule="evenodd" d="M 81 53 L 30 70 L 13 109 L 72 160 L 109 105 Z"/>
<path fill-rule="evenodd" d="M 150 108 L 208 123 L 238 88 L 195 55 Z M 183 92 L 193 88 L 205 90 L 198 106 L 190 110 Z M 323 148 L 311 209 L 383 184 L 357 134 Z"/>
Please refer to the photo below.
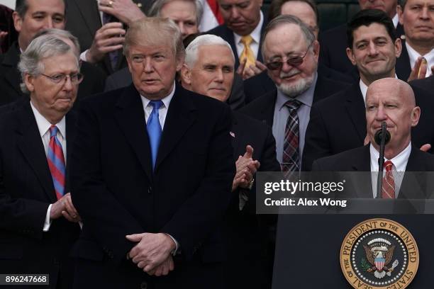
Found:
<path fill-rule="evenodd" d="M 358 83 L 353 84 L 350 89 L 347 90 L 345 108 L 357 131 L 357 135 L 359 135 L 360 143 L 362 144 L 366 137 L 366 116 L 365 103 Z"/>

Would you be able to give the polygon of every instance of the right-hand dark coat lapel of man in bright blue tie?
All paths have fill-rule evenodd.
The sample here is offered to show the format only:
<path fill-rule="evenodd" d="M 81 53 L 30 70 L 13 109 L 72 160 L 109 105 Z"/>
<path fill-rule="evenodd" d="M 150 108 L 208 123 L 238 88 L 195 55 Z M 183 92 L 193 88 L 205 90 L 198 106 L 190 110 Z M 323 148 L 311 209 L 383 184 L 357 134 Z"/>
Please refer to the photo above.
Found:
<path fill-rule="evenodd" d="M 182 89 L 180 85 L 177 85 L 167 111 L 157 161 L 155 162 L 155 171 L 196 120 L 196 115 L 192 113 L 195 110 L 196 108 L 191 102 L 188 92 Z"/>

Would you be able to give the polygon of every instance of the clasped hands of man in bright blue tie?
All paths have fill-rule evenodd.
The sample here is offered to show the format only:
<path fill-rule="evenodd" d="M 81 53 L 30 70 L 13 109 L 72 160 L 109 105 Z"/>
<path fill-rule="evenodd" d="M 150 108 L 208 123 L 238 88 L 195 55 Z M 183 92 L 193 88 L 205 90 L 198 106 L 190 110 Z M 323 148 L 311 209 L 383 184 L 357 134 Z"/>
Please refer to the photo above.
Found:
<path fill-rule="evenodd" d="M 174 269 L 171 252 L 176 244 L 164 233 L 141 233 L 126 236 L 135 246 L 127 254 L 127 259 L 150 276 L 165 276 Z"/>

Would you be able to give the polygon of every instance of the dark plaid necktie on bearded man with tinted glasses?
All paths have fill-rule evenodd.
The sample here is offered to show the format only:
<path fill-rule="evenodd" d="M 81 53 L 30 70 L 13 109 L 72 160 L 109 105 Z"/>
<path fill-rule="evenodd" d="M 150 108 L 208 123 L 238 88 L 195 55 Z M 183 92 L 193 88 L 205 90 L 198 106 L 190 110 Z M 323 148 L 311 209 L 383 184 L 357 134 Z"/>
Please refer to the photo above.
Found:
<path fill-rule="evenodd" d="M 286 101 L 285 106 L 289 110 L 289 116 L 285 128 L 282 171 L 299 171 L 299 116 L 297 109 L 301 106 L 301 102 L 293 99 Z"/>

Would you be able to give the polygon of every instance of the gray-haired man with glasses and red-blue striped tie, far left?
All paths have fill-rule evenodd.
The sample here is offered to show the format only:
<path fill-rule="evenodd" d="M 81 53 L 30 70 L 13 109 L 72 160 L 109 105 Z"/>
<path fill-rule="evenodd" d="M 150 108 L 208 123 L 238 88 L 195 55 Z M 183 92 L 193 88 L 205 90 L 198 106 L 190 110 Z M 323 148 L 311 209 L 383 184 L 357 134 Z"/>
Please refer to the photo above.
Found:
<path fill-rule="evenodd" d="M 70 45 L 43 35 L 19 67 L 30 101 L 0 114 L 0 271 L 49 274 L 45 288 L 72 288 L 69 253 L 80 217 L 69 193 L 76 118 L 68 111 L 82 80 L 79 59 Z"/>

